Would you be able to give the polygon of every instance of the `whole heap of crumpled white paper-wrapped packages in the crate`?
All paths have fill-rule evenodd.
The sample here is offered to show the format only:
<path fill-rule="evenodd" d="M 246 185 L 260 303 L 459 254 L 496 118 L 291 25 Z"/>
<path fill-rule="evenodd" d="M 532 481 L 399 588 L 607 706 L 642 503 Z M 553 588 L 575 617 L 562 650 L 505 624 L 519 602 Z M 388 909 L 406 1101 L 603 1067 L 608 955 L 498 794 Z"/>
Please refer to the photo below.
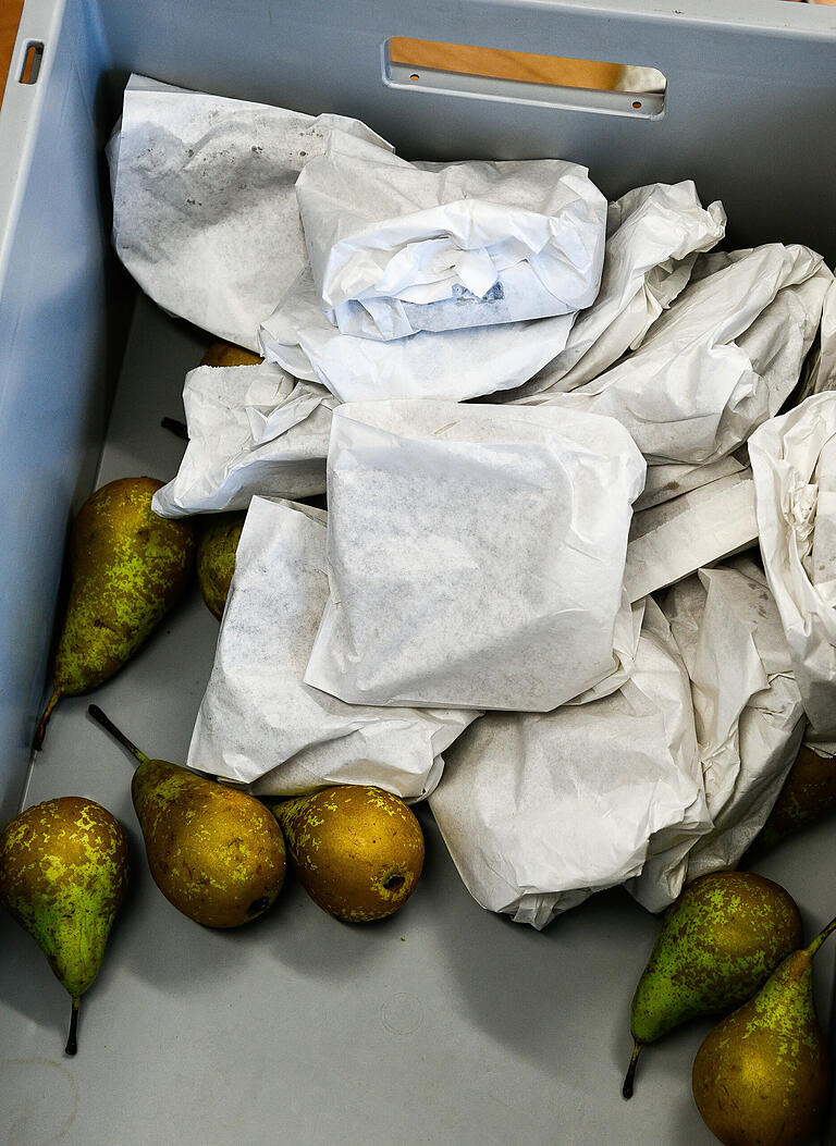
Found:
<path fill-rule="evenodd" d="M 536 927 L 734 865 L 836 741 L 822 258 L 708 253 L 692 182 L 608 204 L 573 163 L 407 163 L 140 77 L 109 158 L 143 289 L 265 359 L 187 376 L 155 499 L 249 507 L 189 763 L 428 798 Z"/>

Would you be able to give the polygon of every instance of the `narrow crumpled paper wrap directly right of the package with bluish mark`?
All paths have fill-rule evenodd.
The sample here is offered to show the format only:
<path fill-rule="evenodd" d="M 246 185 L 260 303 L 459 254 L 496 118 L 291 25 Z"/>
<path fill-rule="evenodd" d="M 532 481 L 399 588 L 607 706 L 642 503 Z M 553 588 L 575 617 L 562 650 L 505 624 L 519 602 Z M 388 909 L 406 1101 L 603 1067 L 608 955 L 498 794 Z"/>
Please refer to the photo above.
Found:
<path fill-rule="evenodd" d="M 644 335 L 690 277 L 698 251 L 726 233 L 720 203 L 704 209 L 694 183 L 651 183 L 607 212 L 607 249 L 597 298 L 579 315 L 565 350 L 514 393 L 514 400 L 591 382 Z"/>

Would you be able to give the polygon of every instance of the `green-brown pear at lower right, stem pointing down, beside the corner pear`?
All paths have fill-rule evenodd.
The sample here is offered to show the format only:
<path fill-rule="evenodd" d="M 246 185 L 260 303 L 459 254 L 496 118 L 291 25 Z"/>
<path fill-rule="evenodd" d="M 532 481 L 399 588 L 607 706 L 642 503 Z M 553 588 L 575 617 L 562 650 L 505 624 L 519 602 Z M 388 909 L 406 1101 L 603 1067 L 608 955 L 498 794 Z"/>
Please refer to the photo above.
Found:
<path fill-rule="evenodd" d="M 697 1015 L 740 1006 L 800 942 L 795 900 L 771 879 L 716 871 L 688 884 L 665 912 L 633 995 L 634 1044 L 624 1097 L 632 1098 L 646 1043 Z"/>

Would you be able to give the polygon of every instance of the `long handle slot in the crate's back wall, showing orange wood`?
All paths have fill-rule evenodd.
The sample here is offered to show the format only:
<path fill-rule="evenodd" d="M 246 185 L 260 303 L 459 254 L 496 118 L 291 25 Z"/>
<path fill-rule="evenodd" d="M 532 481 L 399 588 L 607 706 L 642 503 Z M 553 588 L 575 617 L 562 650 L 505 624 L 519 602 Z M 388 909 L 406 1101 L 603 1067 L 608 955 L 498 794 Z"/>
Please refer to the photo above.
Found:
<path fill-rule="evenodd" d="M 474 100 L 542 104 L 610 116 L 658 119 L 667 80 L 655 68 L 545 56 L 393 36 L 383 45 L 389 87 Z"/>

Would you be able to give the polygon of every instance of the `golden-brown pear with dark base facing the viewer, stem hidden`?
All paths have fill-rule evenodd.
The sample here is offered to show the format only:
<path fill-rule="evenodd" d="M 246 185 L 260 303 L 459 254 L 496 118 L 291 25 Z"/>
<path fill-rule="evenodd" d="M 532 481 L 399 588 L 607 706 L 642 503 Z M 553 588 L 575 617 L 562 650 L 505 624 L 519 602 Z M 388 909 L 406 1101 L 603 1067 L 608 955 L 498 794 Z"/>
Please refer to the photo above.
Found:
<path fill-rule="evenodd" d="M 303 887 L 337 919 L 383 919 L 414 892 L 424 838 L 413 811 L 397 795 L 341 784 L 286 800 L 273 813 Z"/>

